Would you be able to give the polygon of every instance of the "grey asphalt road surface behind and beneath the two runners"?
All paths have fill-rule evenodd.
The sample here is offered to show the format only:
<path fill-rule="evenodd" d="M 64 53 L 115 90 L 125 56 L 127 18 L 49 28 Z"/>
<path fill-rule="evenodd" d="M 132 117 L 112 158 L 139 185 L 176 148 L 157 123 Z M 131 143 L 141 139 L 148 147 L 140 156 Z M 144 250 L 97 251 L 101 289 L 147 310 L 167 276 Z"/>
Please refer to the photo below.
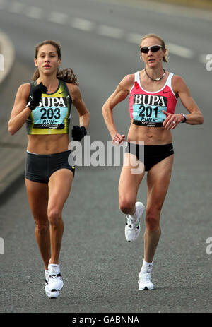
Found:
<path fill-rule="evenodd" d="M 165 8 L 165 7 L 163 7 Z M 173 131 L 175 165 L 161 215 L 162 237 L 153 265 L 155 290 L 141 292 L 137 279 L 143 261 L 143 229 L 133 244 L 124 238 L 126 218 L 119 212 L 121 167 L 78 167 L 64 207 L 61 273 L 64 289 L 47 299 L 44 272 L 34 237 L 24 184 L 0 208 L 1 312 L 157 313 L 211 312 L 211 255 L 206 239 L 211 224 L 211 71 L 203 55 L 211 53 L 211 20 L 155 6 L 128 6 L 106 1 L 3 1 L 1 30 L 16 48 L 11 77 L 1 87 L 5 121 L 20 83 L 33 73 L 34 47 L 46 39 L 62 45 L 62 68 L 78 76 L 90 110 L 90 143 L 106 145 L 109 134 L 102 104 L 119 81 L 142 67 L 139 35 L 156 32 L 170 44 L 165 69 L 182 76 L 204 114 L 204 125 L 182 124 Z M 181 47 L 181 48 L 180 48 Z M 176 112 L 185 112 L 180 103 Z M 127 100 L 114 120 L 129 129 Z M 73 114 L 72 124 L 78 122 Z M 16 136 L 13 136 L 16 137 Z M 92 153 L 92 151 L 91 151 Z M 146 203 L 146 179 L 139 190 Z"/>

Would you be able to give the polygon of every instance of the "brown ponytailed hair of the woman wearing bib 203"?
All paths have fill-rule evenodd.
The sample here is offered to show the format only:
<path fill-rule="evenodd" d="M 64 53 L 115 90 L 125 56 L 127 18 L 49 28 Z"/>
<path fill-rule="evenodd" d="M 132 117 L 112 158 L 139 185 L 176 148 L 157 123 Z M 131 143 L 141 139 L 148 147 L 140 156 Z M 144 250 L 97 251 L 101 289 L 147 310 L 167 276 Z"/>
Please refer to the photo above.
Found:
<path fill-rule="evenodd" d="M 52 44 L 53 47 L 57 50 L 58 59 L 61 59 L 61 45 L 59 42 L 56 42 L 54 40 L 46 40 L 46 41 L 38 43 L 35 46 L 35 58 L 36 59 L 37 59 L 37 54 L 39 52 L 40 47 L 42 47 L 42 45 L 45 45 L 45 44 Z M 39 76 L 40 76 L 39 69 L 36 69 L 34 72 L 34 75 L 33 75 L 33 81 L 37 80 L 37 78 L 39 78 Z M 66 83 L 72 83 L 72 84 L 78 85 L 77 77 L 73 73 L 71 68 L 66 68 L 61 71 L 58 70 L 57 78 Z"/>

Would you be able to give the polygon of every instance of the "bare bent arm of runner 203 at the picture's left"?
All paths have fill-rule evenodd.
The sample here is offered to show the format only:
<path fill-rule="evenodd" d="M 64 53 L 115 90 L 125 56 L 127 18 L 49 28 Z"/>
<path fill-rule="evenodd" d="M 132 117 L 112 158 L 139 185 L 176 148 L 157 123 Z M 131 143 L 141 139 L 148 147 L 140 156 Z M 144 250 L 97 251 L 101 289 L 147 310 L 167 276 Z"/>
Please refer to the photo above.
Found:
<path fill-rule="evenodd" d="M 14 135 L 28 119 L 31 110 L 26 108 L 28 96 L 30 93 L 30 83 L 19 86 L 16 99 L 11 112 L 10 120 L 8 121 L 8 132 Z"/>

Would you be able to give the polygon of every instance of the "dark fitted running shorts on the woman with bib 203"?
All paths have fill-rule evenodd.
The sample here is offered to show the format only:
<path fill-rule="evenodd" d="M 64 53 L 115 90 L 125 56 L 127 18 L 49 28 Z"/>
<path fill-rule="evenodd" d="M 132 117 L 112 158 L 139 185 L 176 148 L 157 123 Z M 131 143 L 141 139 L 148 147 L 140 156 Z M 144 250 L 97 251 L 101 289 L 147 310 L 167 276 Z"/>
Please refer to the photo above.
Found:
<path fill-rule="evenodd" d="M 62 168 L 66 168 L 75 172 L 75 166 L 70 166 L 68 157 L 71 150 L 61 153 L 53 153 L 52 155 L 37 155 L 28 153 L 25 160 L 25 178 L 33 182 L 48 183 L 49 177 Z"/>

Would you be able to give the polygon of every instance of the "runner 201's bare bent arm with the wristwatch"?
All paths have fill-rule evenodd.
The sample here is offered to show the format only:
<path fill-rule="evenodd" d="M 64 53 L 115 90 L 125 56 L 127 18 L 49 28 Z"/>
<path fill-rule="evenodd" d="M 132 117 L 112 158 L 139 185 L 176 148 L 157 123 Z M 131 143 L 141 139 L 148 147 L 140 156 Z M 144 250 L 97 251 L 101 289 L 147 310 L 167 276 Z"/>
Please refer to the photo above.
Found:
<path fill-rule="evenodd" d="M 189 114 L 187 114 L 187 124 L 203 124 L 203 114 L 201 113 L 199 107 L 196 105 L 196 102 L 192 98 L 186 83 L 184 83 L 184 80 L 180 76 L 173 76 L 172 88 L 175 94 L 179 95 L 182 105 L 189 112 Z"/>

